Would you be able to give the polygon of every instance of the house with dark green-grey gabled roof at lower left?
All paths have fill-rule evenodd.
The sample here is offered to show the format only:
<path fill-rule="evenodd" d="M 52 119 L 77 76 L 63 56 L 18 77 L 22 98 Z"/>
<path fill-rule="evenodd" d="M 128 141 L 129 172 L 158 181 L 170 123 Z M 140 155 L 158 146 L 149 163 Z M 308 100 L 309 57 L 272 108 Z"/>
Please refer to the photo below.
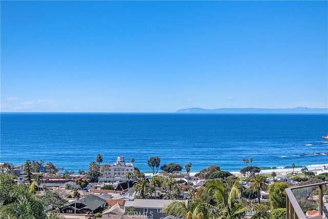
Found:
<path fill-rule="evenodd" d="M 102 198 L 95 195 L 88 195 L 67 203 L 60 209 L 60 212 L 79 214 L 86 214 L 87 212 L 97 213 L 103 211 L 106 205 L 107 202 Z"/>

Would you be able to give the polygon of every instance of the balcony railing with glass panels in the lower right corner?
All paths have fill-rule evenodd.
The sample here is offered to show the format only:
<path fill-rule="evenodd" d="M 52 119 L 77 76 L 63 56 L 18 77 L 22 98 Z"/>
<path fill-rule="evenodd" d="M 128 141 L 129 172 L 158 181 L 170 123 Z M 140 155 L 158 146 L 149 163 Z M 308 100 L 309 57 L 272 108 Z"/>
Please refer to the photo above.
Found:
<path fill-rule="evenodd" d="M 310 185 L 304 185 L 304 186 L 295 186 L 291 188 L 286 188 L 286 210 L 287 210 L 287 219 L 322 219 L 322 218 L 328 218 L 328 211 L 326 207 L 323 204 L 323 186 L 327 185 L 328 182 L 324 183 L 316 183 L 316 184 L 310 184 Z M 304 189 L 304 188 L 310 188 L 310 187 L 318 187 L 319 188 L 319 194 L 318 194 L 318 212 L 320 215 L 317 216 L 305 216 L 304 212 L 301 209 L 301 206 L 297 202 L 297 199 L 293 193 L 293 190 L 296 189 Z M 310 194 L 309 194 L 310 197 Z M 322 214 L 324 213 L 324 214 Z M 323 215 L 325 217 L 323 217 Z"/>

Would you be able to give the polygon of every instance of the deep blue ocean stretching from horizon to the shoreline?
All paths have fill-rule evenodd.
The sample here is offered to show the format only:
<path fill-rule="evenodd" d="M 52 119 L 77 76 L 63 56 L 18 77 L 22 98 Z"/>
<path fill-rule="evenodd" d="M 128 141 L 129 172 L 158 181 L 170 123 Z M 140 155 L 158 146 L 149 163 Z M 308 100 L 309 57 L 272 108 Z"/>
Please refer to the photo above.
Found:
<path fill-rule="evenodd" d="M 149 173 L 151 156 L 161 165 L 191 162 L 191 172 L 239 171 L 252 157 L 252 165 L 274 170 L 328 164 L 327 133 L 327 114 L 1 113 L 0 161 L 77 171 L 100 153 L 103 164 L 133 157 Z"/>

